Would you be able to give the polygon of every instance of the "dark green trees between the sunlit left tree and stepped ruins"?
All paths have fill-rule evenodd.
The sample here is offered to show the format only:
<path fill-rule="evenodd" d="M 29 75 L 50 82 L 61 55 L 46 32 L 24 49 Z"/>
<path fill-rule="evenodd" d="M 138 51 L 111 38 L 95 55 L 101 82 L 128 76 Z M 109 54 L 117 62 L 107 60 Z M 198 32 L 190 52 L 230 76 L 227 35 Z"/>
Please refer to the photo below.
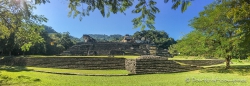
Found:
<path fill-rule="evenodd" d="M 48 33 L 49 31 L 55 32 L 51 27 L 47 30 L 40 32 L 44 42 L 36 43 L 33 47 L 31 47 L 31 51 L 26 52 L 27 54 L 56 55 L 79 42 L 79 39 L 70 36 L 69 32 Z"/>

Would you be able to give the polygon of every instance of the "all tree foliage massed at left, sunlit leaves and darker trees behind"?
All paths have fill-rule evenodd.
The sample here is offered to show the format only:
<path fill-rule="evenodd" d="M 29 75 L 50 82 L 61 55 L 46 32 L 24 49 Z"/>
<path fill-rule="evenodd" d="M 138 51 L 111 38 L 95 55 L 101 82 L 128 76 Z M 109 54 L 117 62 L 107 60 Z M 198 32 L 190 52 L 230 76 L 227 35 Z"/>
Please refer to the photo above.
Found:
<path fill-rule="evenodd" d="M 35 4 L 47 2 L 49 0 L 35 0 Z M 35 8 L 33 2 L 1 0 L 0 4 L 1 52 L 8 51 L 9 55 L 14 51 L 19 54 L 20 50 L 28 54 L 58 54 L 77 41 L 73 42 L 71 38 L 74 37 L 69 33 L 59 34 L 51 27 L 42 25 L 47 19 L 32 14 Z M 49 37 L 48 32 L 56 35 Z"/>

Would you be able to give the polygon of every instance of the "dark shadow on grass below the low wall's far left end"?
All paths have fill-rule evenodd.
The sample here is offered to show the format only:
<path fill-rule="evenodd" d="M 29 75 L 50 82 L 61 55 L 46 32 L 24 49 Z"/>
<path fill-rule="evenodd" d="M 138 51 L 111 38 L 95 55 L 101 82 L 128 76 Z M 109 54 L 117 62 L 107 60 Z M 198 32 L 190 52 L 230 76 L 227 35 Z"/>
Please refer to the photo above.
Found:
<path fill-rule="evenodd" d="M 27 69 L 25 66 L 5 66 L 5 65 L 0 65 L 0 70 L 5 70 L 8 72 L 32 71 L 32 69 Z"/>

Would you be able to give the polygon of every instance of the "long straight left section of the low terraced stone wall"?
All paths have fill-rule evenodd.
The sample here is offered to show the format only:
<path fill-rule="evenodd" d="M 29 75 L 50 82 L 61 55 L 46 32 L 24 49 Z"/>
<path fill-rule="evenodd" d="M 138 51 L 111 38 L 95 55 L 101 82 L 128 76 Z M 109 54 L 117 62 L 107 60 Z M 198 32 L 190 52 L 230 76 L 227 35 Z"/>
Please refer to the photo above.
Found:
<path fill-rule="evenodd" d="M 102 57 L 37 57 L 7 58 L 0 60 L 1 65 L 33 66 L 45 68 L 66 68 L 86 70 L 125 69 L 125 58 Z"/>

